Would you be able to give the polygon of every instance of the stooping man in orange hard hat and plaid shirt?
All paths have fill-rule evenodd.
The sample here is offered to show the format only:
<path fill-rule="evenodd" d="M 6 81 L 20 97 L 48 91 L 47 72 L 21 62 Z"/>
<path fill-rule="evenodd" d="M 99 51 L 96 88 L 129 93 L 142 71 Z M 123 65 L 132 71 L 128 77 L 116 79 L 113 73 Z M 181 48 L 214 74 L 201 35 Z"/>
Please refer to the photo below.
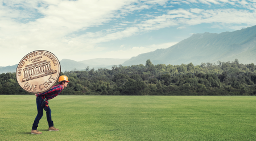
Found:
<path fill-rule="evenodd" d="M 60 94 L 60 92 L 67 87 L 68 85 L 68 77 L 67 76 L 60 76 L 59 78 L 59 85 L 53 86 L 51 89 L 49 89 L 47 92 L 44 93 L 39 93 L 35 94 L 36 96 L 36 106 L 38 108 L 38 115 L 36 115 L 35 121 L 32 126 L 31 134 L 42 134 L 42 132 L 39 132 L 37 130 L 38 128 L 38 123 L 40 119 L 43 117 L 43 110 L 44 108 L 41 106 L 42 102 L 44 102 L 44 98 L 52 99 L 55 98 Z M 47 105 L 48 106 L 48 105 Z M 46 110 L 46 117 L 48 121 L 49 131 L 59 131 L 58 128 L 53 127 L 53 121 L 52 121 L 52 116 L 51 116 L 51 109 L 48 107 Z"/>

